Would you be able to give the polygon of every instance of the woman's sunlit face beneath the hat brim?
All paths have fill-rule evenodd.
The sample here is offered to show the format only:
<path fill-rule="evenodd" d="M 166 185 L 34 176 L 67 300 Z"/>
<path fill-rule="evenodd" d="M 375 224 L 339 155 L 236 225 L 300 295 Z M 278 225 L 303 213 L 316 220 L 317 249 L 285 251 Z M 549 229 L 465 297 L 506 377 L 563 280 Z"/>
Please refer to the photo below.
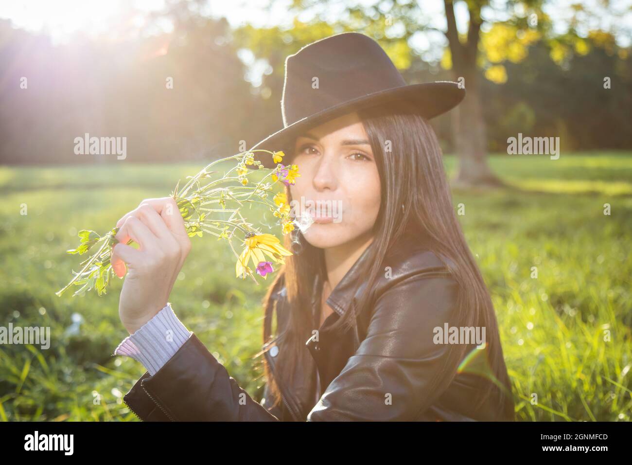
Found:
<path fill-rule="evenodd" d="M 292 213 L 314 223 L 303 236 L 327 249 L 372 236 L 380 209 L 380 177 L 367 133 L 356 113 L 311 128 L 295 141 L 292 164 L 300 177 L 289 186 Z"/>

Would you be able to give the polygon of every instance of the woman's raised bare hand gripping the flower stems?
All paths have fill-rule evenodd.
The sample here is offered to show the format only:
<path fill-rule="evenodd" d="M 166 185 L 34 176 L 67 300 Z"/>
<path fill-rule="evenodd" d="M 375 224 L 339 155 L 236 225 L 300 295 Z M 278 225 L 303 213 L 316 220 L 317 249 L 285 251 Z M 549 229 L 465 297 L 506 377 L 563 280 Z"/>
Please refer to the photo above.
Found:
<path fill-rule="evenodd" d="M 119 243 L 114 244 L 111 263 L 119 278 L 127 273 L 119 318 L 131 334 L 166 306 L 191 241 L 173 197 L 143 200 L 116 226 Z M 127 245 L 130 239 L 139 249 Z"/>

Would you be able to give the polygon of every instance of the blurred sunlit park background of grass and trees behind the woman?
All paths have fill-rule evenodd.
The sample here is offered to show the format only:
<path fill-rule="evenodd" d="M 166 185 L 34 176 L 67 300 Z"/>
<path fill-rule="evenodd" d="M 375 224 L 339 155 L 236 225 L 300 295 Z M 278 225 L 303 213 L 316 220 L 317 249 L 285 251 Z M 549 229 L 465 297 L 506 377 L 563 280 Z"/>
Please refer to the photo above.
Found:
<path fill-rule="evenodd" d="M 122 282 L 103 297 L 57 297 L 80 261 L 66 251 L 79 230 L 107 232 L 142 199 L 283 127 L 286 56 L 355 31 L 408 84 L 463 79 L 463 104 L 432 125 L 492 293 L 516 418 L 629 421 L 629 3 L 17 5 L 0 4 L 0 326 L 51 326 L 52 345 L 0 345 L 0 420 L 137 419 L 122 397 L 144 369 L 112 356 L 127 335 Z M 126 137 L 126 158 L 75 154 L 84 133 Z M 559 159 L 507 154 L 519 133 L 559 137 Z M 266 282 L 233 278 L 214 237 L 191 240 L 174 311 L 260 400 Z"/>

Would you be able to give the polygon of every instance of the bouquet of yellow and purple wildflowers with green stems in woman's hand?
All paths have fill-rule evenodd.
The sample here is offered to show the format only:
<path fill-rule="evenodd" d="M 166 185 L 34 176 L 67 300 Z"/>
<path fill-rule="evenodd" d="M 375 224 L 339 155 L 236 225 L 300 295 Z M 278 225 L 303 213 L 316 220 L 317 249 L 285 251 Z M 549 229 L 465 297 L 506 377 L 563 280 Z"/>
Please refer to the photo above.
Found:
<path fill-rule="evenodd" d="M 272 156 L 277 166 L 264 168 L 260 161 L 255 161 L 253 152 L 266 152 Z M 237 260 L 236 277 L 245 279 L 246 276 L 250 276 L 255 283 L 255 273 L 265 279 L 267 273 L 274 271 L 273 263 L 283 263 L 284 256 L 292 255 L 276 236 L 260 232 L 252 223 L 248 223 L 241 213 L 246 205 L 262 204 L 279 218 L 278 223 L 283 234 L 294 230 L 295 221 L 290 218 L 291 209 L 287 196 L 283 190 L 276 191 L 274 187 L 279 184 L 294 184 L 300 174 L 295 164 L 285 166 L 281 163 L 283 157 L 283 152 L 267 150 L 241 152 L 210 163 L 197 175 L 187 177 L 188 182 L 181 189 L 178 189 L 178 182 L 171 192 L 171 197 L 177 202 L 185 221 L 188 235 L 201 237 L 206 233 L 217 237 L 217 240 L 226 240 Z M 229 160 L 235 160 L 237 163 L 223 176 L 219 177 L 218 171 L 210 171 L 215 164 Z M 258 170 L 251 170 L 246 165 L 257 166 Z M 248 175 L 259 170 L 265 170 L 267 173 L 257 183 L 251 182 Z M 61 296 L 73 285 L 80 286 L 73 295 L 83 294 L 92 289 L 96 289 L 99 295 L 106 294 L 111 276 L 116 276 L 110 259 L 112 247 L 118 242 L 114 237 L 118 230 L 118 227 L 113 228 L 102 236 L 90 230 L 79 232 L 79 246 L 68 253 L 94 253 L 80 263 L 80 271 L 73 271 L 74 277 L 56 292 L 57 295 Z M 236 239 L 243 245 L 241 252 L 238 252 L 233 244 Z M 133 244 L 133 240 L 128 244 Z M 251 261 L 252 268 L 248 266 Z"/>

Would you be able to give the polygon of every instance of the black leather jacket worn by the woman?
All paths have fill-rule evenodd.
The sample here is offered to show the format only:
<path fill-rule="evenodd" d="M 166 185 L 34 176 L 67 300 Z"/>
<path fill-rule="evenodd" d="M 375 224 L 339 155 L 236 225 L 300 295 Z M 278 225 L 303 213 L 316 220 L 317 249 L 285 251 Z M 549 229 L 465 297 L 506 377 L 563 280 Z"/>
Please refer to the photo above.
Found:
<path fill-rule="evenodd" d="M 358 330 L 344 336 L 328 331 L 344 302 L 357 299 L 364 289 L 361 285 L 353 292 L 363 278 L 358 270 L 368 250 L 329 295 L 327 304 L 334 313 L 321 326 L 319 340 L 306 342 L 310 363 L 300 367 L 292 385 L 275 378 L 282 398 L 276 406 L 267 387 L 260 403 L 253 400 L 195 334 L 154 376 L 145 372 L 123 400 L 144 421 L 513 419 L 513 410 L 503 411 L 498 397 L 473 407 L 473 394 L 489 390 L 490 381 L 466 373 L 445 375 L 443 356 L 449 345 L 434 344 L 433 328 L 451 321 L 458 284 L 439 257 L 410 233 L 384 259 L 391 274 L 380 276 L 370 291 L 373 303 L 359 314 Z M 283 280 L 279 283 L 269 307 L 276 311 L 277 329 L 283 329 L 289 306 Z M 319 321 L 319 304 L 320 294 L 315 293 L 314 321 Z M 270 349 L 265 357 L 273 375 L 282 341 L 277 337 L 264 344 Z M 437 385 L 430 388 L 433 380 Z M 318 402 L 317 382 L 322 392 Z"/>

